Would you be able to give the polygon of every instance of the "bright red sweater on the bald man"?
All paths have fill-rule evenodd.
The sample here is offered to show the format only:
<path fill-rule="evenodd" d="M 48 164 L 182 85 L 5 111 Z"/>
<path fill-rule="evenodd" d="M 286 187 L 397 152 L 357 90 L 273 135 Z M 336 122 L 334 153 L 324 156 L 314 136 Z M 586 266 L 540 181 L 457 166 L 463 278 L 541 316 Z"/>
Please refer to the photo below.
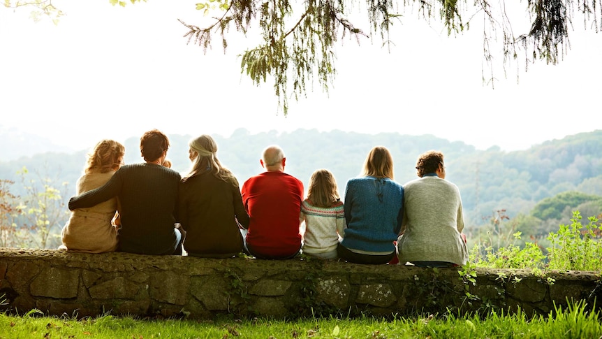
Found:
<path fill-rule="evenodd" d="M 297 253 L 303 183 L 284 172 L 264 172 L 244 182 L 241 194 L 251 219 L 247 245 L 270 257 Z"/>

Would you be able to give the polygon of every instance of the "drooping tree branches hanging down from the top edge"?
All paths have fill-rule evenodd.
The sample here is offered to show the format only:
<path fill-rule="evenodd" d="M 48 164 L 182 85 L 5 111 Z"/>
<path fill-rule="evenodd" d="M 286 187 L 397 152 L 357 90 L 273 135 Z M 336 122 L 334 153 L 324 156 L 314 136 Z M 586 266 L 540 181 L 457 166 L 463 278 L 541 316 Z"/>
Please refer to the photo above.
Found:
<path fill-rule="evenodd" d="M 247 34 L 260 31 L 261 42 L 255 48 L 242 53 L 241 69 L 256 84 L 274 80 L 274 92 L 286 115 L 288 96 L 295 100 L 307 92 L 307 84 L 317 79 L 328 92 L 335 75 L 335 44 L 339 38 L 351 36 L 358 42 L 362 38 L 380 36 L 383 43 L 390 43 L 389 33 L 395 20 L 403 22 L 406 10 L 418 9 L 423 19 L 439 20 L 448 34 L 457 34 L 469 28 L 473 20 L 483 19 L 483 57 L 491 73 L 483 76 L 493 85 L 492 51 L 501 50 L 504 64 L 517 59 L 524 52 L 525 64 L 543 59 L 557 64 L 568 50 L 568 34 L 575 14 L 582 15 L 584 23 L 592 23 L 597 32 L 601 27 L 602 0 L 527 0 L 529 31 L 515 33 L 507 8 L 517 7 L 515 0 L 210 0 L 219 3 L 221 15 L 205 27 L 182 22 L 189 31 L 185 36 L 207 50 L 212 36 L 219 35 L 226 50 L 226 35 L 230 27 Z M 363 5 L 365 20 L 351 18 L 351 8 Z M 197 9 L 210 13 L 210 3 L 198 3 Z M 215 8 L 216 6 L 213 6 Z M 524 11 L 522 12 L 524 17 Z M 466 19 L 468 18 L 468 19 Z M 517 19 L 522 20 L 522 19 Z M 501 35 L 501 48 L 496 44 Z"/>

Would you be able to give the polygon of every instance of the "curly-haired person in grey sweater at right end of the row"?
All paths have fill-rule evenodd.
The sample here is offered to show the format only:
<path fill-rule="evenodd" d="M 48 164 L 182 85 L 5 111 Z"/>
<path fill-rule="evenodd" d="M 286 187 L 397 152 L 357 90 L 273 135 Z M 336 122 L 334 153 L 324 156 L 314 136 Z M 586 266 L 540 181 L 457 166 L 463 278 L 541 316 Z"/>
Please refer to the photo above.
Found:
<path fill-rule="evenodd" d="M 445 180 L 443 154 L 421 154 L 416 169 L 420 178 L 404 185 L 402 235 L 397 239 L 399 263 L 421 267 L 466 264 L 462 199 L 457 186 Z"/>

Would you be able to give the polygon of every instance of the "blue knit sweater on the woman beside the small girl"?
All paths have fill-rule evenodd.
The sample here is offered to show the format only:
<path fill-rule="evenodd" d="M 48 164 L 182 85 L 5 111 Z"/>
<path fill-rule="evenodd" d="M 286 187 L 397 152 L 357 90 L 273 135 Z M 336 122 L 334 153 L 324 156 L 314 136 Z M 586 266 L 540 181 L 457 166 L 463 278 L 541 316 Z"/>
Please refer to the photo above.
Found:
<path fill-rule="evenodd" d="M 395 251 L 403 219 L 404 187 L 388 178 L 361 177 L 347 182 L 341 245 L 350 250 Z"/>

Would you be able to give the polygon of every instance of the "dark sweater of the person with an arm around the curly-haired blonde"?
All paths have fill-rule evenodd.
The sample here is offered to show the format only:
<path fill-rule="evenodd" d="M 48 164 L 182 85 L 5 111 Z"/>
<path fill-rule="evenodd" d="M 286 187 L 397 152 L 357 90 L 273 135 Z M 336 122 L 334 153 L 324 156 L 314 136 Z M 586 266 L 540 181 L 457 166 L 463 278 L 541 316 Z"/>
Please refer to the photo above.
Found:
<path fill-rule="evenodd" d="M 179 173 L 164 166 L 122 166 L 105 185 L 72 197 L 69 209 L 91 207 L 117 196 L 122 223 L 119 250 L 172 254 L 177 245 L 174 224 L 179 181 Z"/>

